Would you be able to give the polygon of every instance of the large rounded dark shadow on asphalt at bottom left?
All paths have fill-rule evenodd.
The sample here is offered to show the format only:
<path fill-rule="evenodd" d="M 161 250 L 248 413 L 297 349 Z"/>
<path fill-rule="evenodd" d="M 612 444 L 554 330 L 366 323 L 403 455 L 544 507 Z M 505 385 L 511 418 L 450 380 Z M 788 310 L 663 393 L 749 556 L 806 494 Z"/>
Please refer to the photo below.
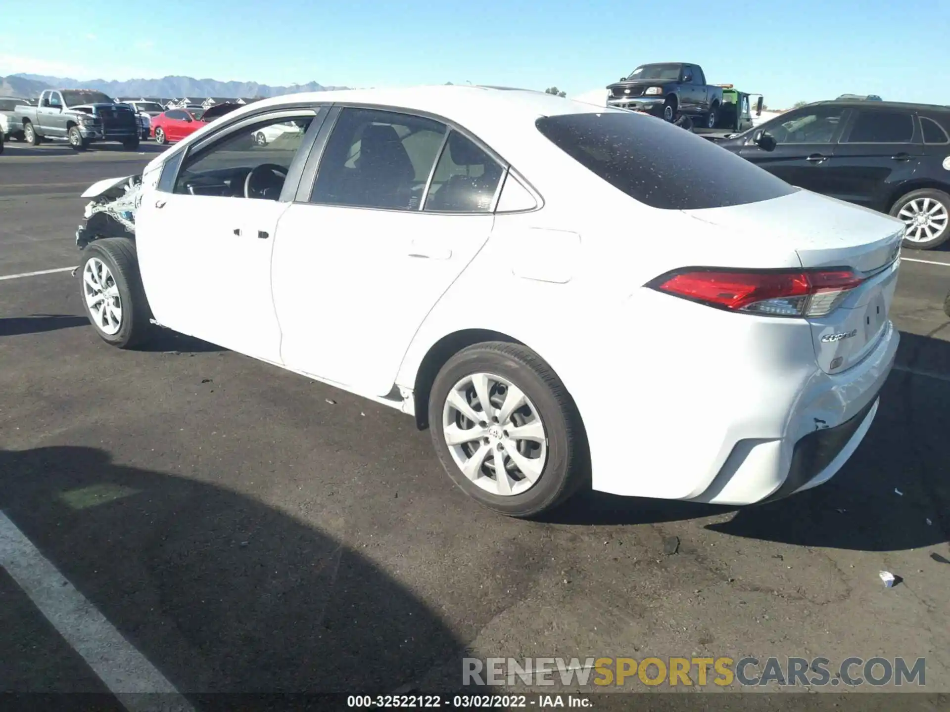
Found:
<path fill-rule="evenodd" d="M 425 602 L 345 543 L 342 521 L 321 531 L 89 447 L 0 451 L 0 510 L 186 695 L 386 694 L 463 649 Z M 23 631 L 2 637 L 0 672 L 21 671 L 10 680 L 7 670 L 6 689 L 82 691 L 44 679 L 55 665 L 3 663 L 43 651 L 30 652 Z"/>

